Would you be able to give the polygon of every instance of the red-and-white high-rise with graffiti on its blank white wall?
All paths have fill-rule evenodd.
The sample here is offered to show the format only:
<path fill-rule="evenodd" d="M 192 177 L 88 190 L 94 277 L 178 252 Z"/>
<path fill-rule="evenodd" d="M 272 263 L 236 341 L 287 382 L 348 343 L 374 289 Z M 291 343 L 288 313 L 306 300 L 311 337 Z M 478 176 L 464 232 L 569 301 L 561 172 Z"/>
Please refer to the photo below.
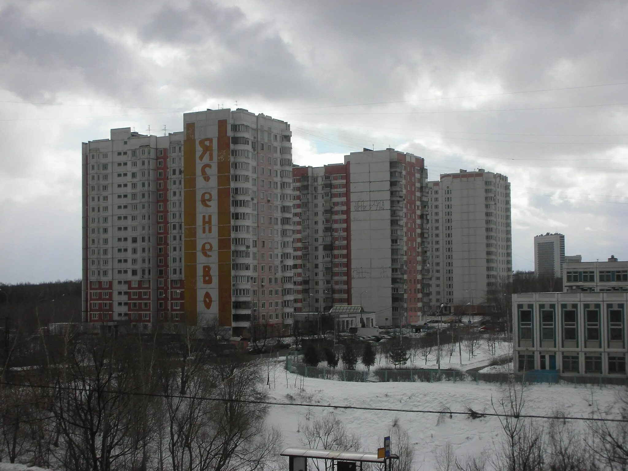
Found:
<path fill-rule="evenodd" d="M 295 311 L 362 304 L 381 327 L 420 323 L 430 304 L 423 159 L 364 149 L 293 177 Z"/>

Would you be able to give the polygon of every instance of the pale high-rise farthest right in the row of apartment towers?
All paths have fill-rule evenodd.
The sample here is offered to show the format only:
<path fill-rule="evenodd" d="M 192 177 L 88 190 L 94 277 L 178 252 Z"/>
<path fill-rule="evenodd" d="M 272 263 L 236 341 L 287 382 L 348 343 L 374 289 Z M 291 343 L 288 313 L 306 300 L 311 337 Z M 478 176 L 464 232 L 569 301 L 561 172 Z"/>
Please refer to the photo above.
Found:
<path fill-rule="evenodd" d="M 432 310 L 484 303 L 512 276 L 510 183 L 480 168 L 443 174 L 428 188 Z"/>

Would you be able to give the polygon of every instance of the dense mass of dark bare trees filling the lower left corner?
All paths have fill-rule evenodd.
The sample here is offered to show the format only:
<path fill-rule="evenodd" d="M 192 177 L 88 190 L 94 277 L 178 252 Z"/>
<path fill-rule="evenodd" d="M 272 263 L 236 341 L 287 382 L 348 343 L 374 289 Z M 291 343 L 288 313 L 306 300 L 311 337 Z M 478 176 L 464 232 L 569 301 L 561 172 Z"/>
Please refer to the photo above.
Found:
<path fill-rule="evenodd" d="M 36 351 L 39 362 L 0 366 L 0 461 L 71 471 L 268 468 L 281 435 L 256 402 L 266 397 L 260 365 L 217 332 L 11 337 L 9 350 Z"/>

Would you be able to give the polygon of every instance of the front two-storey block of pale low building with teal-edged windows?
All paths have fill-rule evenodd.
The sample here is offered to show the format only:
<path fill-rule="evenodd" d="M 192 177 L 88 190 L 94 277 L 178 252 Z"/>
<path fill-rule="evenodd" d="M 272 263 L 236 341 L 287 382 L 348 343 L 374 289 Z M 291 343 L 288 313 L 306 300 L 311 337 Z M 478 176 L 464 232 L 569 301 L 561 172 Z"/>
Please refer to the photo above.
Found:
<path fill-rule="evenodd" d="M 512 295 L 514 371 L 626 376 L 628 293 Z"/>

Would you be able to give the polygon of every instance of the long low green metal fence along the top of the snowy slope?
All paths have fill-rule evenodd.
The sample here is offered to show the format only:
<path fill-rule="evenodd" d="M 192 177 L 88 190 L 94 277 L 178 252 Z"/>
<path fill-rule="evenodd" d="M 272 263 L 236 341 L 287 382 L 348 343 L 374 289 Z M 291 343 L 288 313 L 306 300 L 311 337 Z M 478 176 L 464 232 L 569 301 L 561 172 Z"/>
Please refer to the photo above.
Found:
<path fill-rule="evenodd" d="M 562 374 L 539 374 L 538 371 L 526 373 L 485 373 L 480 371 L 464 372 L 438 369 L 374 369 L 372 371 L 354 371 L 338 368 L 308 366 L 298 362 L 297 355 L 286 355 L 286 370 L 308 378 L 327 379 L 330 381 L 353 382 L 463 382 L 466 384 L 507 384 L 525 382 L 527 384 L 548 384 L 568 387 L 604 387 L 607 385 L 628 386 L 626 377 L 604 376 L 566 376 Z"/>

